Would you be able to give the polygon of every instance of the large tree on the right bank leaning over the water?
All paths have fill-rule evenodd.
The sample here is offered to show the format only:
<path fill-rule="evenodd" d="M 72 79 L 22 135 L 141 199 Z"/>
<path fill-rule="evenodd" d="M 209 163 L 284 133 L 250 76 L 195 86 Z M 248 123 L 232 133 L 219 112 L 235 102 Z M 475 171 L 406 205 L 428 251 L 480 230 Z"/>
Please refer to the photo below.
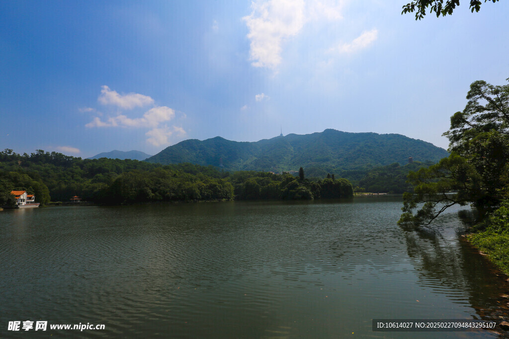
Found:
<path fill-rule="evenodd" d="M 467 99 L 444 133 L 449 157 L 410 172 L 413 193 L 404 195 L 400 224 L 430 224 L 448 207 L 467 203 L 482 221 L 509 197 L 509 86 L 475 81 Z"/>

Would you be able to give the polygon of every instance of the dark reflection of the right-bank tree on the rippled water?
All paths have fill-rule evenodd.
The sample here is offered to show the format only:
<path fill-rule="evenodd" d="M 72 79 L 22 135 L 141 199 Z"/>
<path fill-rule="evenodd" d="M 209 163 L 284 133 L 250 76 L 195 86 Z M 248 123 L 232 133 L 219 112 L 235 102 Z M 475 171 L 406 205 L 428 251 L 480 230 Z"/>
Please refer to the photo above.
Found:
<path fill-rule="evenodd" d="M 419 284 L 454 302 L 471 305 L 476 311 L 474 319 L 507 319 L 507 300 L 500 296 L 507 294 L 509 284 L 470 244 L 458 241 L 466 230 L 465 224 L 457 222 L 458 214 L 465 217 L 469 211 L 450 211 L 433 227 L 405 234 L 408 255 L 417 260 Z"/>

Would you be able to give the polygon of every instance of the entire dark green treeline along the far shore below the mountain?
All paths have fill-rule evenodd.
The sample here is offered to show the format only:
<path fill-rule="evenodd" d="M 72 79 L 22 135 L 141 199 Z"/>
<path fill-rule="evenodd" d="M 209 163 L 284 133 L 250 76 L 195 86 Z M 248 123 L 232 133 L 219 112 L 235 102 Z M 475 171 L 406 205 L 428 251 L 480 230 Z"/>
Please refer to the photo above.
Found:
<path fill-rule="evenodd" d="M 36 195 L 36 202 L 83 200 L 105 204 L 228 199 L 313 199 L 351 197 L 346 179 L 309 180 L 270 172 L 219 172 L 212 166 L 166 165 L 136 160 L 74 158 L 37 150 L 0 152 L 0 203 L 12 204 L 12 190 Z"/>

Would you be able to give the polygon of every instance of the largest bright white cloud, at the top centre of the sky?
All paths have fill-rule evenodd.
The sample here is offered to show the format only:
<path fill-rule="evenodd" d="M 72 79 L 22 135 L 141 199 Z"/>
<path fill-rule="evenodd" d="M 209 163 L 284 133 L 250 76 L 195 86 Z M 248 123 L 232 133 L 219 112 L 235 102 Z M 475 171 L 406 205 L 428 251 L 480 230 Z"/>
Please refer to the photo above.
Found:
<path fill-rule="evenodd" d="M 340 20 L 347 0 L 256 0 L 243 17 L 249 28 L 251 65 L 276 69 L 282 44 L 297 36 L 309 20 Z"/>

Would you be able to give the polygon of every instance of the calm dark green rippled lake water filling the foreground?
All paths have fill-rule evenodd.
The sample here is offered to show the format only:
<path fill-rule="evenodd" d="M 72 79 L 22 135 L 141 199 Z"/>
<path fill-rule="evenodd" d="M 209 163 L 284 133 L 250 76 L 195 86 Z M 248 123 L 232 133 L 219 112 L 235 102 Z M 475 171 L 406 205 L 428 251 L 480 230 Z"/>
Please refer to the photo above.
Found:
<path fill-rule="evenodd" d="M 458 209 L 404 231 L 401 197 L 0 212 L 0 337 L 496 337 L 373 332 L 372 319 L 481 319 L 507 293 L 459 241 Z M 488 310 L 488 311 L 486 311 Z M 104 330 L 50 330 L 50 324 Z M 24 332 L 24 331 L 23 331 Z M 353 332 L 353 333 L 352 333 Z"/>

